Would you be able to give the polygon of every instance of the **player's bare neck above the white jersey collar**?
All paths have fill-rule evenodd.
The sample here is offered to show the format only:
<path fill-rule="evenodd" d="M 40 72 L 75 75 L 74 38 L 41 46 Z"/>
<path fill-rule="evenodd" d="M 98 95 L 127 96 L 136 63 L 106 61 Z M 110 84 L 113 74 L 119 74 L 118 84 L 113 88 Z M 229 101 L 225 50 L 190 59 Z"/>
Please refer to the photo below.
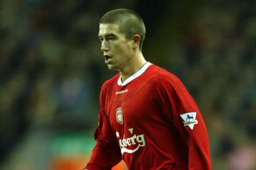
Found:
<path fill-rule="evenodd" d="M 140 70 L 147 61 L 143 57 L 142 52 L 139 52 L 137 56 L 134 56 L 130 62 L 127 63 L 123 70 L 119 70 L 122 82 L 131 77 L 134 73 Z"/>

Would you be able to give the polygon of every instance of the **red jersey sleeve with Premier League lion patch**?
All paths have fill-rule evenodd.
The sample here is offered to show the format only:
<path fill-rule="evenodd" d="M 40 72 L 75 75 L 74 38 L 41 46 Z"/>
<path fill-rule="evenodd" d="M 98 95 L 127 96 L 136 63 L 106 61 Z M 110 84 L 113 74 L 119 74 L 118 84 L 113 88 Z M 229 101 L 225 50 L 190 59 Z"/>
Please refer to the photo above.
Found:
<path fill-rule="evenodd" d="M 207 128 L 195 100 L 177 77 L 163 77 L 164 113 L 188 146 L 188 169 L 211 170 Z"/>

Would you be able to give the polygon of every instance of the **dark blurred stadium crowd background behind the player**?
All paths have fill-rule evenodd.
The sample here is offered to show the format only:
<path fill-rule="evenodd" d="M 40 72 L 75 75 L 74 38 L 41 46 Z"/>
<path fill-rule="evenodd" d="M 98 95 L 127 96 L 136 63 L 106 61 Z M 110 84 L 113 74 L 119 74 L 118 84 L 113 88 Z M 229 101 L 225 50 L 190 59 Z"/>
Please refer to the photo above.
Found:
<path fill-rule="evenodd" d="M 0 169 L 86 165 L 99 91 L 116 74 L 104 63 L 98 22 L 115 8 L 143 17 L 145 58 L 195 98 L 213 170 L 255 170 L 253 0 L 0 0 Z"/>

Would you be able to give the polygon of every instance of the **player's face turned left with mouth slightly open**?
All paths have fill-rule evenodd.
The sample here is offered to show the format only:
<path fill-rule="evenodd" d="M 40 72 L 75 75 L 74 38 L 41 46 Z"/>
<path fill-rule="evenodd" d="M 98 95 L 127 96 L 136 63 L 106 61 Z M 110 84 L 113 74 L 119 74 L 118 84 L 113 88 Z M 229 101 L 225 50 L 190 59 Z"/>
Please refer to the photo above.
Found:
<path fill-rule="evenodd" d="M 110 70 L 123 70 L 132 57 L 132 40 L 127 40 L 116 24 L 100 24 L 99 39 Z"/>

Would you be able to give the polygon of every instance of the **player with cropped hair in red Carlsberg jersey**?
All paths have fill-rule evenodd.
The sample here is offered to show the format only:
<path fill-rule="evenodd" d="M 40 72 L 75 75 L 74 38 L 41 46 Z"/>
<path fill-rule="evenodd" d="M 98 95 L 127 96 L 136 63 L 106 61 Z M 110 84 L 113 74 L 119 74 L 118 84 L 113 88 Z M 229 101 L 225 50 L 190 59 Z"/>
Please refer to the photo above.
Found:
<path fill-rule="evenodd" d="M 198 106 L 175 75 L 143 57 L 145 25 L 129 9 L 99 21 L 105 63 L 119 73 L 100 92 L 99 125 L 84 170 L 211 170 L 209 139 Z"/>

